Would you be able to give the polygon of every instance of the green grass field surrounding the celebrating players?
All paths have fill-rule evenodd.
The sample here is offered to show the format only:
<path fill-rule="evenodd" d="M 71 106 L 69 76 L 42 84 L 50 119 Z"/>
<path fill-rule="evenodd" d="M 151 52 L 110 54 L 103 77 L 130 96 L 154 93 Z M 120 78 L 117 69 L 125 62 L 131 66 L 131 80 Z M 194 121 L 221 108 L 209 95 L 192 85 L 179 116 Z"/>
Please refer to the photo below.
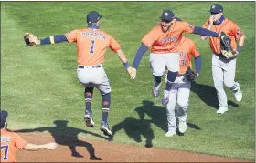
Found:
<path fill-rule="evenodd" d="M 221 4 L 225 15 L 235 20 L 246 35 L 236 74 L 243 100 L 237 103 L 226 89 L 229 112 L 216 114 L 218 103 L 208 42 L 186 34 L 202 54 L 202 73 L 197 86 L 191 89 L 186 135 L 165 138 L 165 107 L 159 101 L 155 106 L 151 102 L 155 100 L 151 95 L 149 57 L 144 56 L 136 80 L 131 81 L 118 57 L 108 50 L 104 66 L 112 87 L 110 123 L 115 142 L 144 146 L 145 140 L 152 140 L 153 147 L 254 160 L 254 3 Z M 209 16 L 210 5 L 209 2 L 1 2 L 1 109 L 9 111 L 9 127 L 54 127 L 54 120 L 68 120 L 69 127 L 101 134 L 98 129 L 101 95 L 97 91 L 92 102 L 96 128 L 83 125 L 84 97 L 76 77 L 76 46 L 63 43 L 28 48 L 22 38 L 25 32 L 40 38 L 64 34 L 84 27 L 86 14 L 97 10 L 103 15 L 101 28 L 119 41 L 132 63 L 141 38 L 158 24 L 162 10 L 170 8 L 183 21 L 200 26 Z M 139 120 L 140 116 L 144 121 Z M 91 134 L 80 137 L 102 140 Z M 137 142 L 140 138 L 142 142 Z"/>

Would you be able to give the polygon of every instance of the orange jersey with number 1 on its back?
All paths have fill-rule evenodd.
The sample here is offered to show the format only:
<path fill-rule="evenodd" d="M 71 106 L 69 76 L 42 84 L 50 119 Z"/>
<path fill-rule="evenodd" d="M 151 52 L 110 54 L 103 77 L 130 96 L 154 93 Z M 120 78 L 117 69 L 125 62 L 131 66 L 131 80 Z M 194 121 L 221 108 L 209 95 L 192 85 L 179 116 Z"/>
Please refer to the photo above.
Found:
<path fill-rule="evenodd" d="M 104 62 L 105 51 L 121 49 L 117 41 L 101 29 L 77 29 L 65 35 L 68 42 L 77 43 L 77 63 L 80 66 L 95 66 Z"/>

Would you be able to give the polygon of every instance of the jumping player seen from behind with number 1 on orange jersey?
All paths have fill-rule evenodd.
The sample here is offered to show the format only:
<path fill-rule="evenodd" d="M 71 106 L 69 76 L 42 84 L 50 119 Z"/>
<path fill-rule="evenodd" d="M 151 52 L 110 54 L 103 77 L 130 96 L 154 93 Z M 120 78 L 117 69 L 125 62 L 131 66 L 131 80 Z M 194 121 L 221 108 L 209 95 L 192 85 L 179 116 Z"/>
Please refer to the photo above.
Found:
<path fill-rule="evenodd" d="M 80 83 L 85 87 L 85 124 L 88 127 L 94 127 L 91 98 L 93 89 L 96 87 L 102 95 L 102 122 L 100 129 L 105 135 L 111 136 L 112 131 L 108 125 L 108 113 L 111 105 L 111 87 L 102 66 L 107 47 L 110 47 L 112 51 L 119 56 L 129 74 L 132 68 L 129 66 L 128 60 L 117 41 L 112 36 L 99 29 L 101 18 L 102 15 L 96 11 L 92 11 L 87 15 L 87 28 L 73 30 L 65 35 L 49 36 L 41 40 L 34 37 L 32 40 L 34 40 L 37 45 L 54 44 L 63 41 L 77 43 L 77 76 Z"/>

